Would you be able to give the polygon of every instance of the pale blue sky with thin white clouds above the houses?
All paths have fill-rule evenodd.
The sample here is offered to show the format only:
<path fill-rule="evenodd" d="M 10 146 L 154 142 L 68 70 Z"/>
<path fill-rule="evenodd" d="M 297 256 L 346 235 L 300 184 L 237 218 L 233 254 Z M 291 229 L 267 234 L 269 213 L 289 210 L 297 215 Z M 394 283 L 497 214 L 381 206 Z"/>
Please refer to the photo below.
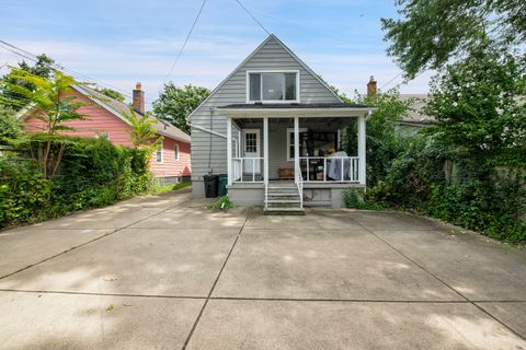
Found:
<path fill-rule="evenodd" d="M 242 2 L 271 33 L 345 93 L 365 92 L 369 75 L 382 86 L 400 72 L 386 55 L 380 30 L 380 18 L 397 15 L 393 0 Z M 0 0 L 0 38 L 33 54 L 45 52 L 67 68 L 129 93 L 140 81 L 151 103 L 201 3 Z M 235 0 L 208 0 L 170 80 L 213 89 L 266 36 Z M 0 49 L 0 67 L 20 59 Z M 401 85 L 401 92 L 427 92 L 430 75 Z"/>

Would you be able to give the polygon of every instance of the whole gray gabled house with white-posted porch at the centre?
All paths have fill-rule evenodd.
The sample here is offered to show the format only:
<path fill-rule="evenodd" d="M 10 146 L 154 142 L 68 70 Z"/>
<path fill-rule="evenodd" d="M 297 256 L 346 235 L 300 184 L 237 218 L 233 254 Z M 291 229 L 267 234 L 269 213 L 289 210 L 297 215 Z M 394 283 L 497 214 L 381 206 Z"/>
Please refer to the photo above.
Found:
<path fill-rule="evenodd" d="M 187 118 L 192 179 L 228 174 L 229 197 L 266 210 L 339 207 L 345 187 L 365 186 L 365 118 L 274 35 L 268 36 Z M 358 152 L 340 149 L 357 122 Z M 331 154 L 332 153 L 332 154 Z"/>

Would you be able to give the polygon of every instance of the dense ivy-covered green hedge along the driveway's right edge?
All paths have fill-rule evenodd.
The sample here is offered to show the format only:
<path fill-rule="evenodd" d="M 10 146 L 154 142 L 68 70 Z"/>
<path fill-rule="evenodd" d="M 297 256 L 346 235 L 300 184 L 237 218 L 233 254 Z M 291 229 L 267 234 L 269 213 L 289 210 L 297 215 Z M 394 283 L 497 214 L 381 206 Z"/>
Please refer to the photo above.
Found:
<path fill-rule="evenodd" d="M 453 175 L 446 178 L 444 164 L 450 156 L 432 136 L 416 137 L 393 161 L 385 182 L 367 191 L 367 198 L 501 241 L 526 243 L 524 168 L 498 173 L 491 167 L 493 159 L 457 153 Z"/>

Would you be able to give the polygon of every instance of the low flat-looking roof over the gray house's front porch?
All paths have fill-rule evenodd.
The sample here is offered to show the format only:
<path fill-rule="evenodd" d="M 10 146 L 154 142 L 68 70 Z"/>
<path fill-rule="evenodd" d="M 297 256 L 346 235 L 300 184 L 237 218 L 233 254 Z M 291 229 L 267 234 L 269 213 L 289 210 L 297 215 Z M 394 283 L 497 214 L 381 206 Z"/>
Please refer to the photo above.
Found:
<path fill-rule="evenodd" d="M 255 103 L 217 107 L 227 117 L 352 117 L 377 108 L 346 103 Z"/>

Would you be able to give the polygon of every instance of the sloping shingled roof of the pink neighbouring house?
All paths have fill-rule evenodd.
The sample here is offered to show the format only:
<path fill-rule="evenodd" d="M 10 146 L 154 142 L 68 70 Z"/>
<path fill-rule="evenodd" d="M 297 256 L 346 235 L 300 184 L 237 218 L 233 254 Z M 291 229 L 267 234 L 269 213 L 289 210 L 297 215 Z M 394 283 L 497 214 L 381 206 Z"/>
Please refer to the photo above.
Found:
<path fill-rule="evenodd" d="M 124 116 L 125 114 L 129 114 L 129 106 L 121 101 L 106 96 L 96 90 L 88 88 L 85 85 L 75 85 L 72 86 L 75 90 L 106 109 L 107 112 L 115 115 L 117 118 L 123 120 L 124 122 L 129 125 L 129 121 Z M 136 112 L 134 112 L 136 113 Z M 157 129 L 159 135 L 165 136 L 168 138 L 176 139 L 183 142 L 191 142 L 191 137 L 186 132 L 182 131 L 178 127 L 167 122 L 159 120 L 155 117 L 150 117 L 151 120 L 156 120 L 157 122 L 153 125 L 153 128 Z"/>

